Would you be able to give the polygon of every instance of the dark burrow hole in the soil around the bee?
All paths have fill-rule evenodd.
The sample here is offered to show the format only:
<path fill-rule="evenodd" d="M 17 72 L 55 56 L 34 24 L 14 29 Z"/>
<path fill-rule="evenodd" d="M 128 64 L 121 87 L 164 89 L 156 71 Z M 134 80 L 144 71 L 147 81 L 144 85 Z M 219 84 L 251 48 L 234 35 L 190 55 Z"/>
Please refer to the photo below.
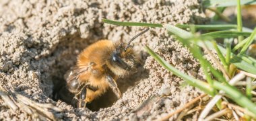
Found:
<path fill-rule="evenodd" d="M 79 35 L 77 35 L 79 36 Z M 94 40 L 88 41 L 79 37 L 67 37 L 65 41 L 61 42 L 57 48 L 55 49 L 55 52 L 53 52 L 55 60 L 55 65 L 53 65 L 53 70 L 51 71 L 51 79 L 53 81 L 53 94 L 52 99 L 55 101 L 58 101 L 59 99 L 63 102 L 66 102 L 67 104 L 71 104 L 72 97 L 69 97 L 68 99 L 64 100 L 59 97 L 55 97 L 56 93 L 58 93 L 59 89 L 63 86 L 65 86 L 65 79 L 64 75 L 65 73 L 75 65 L 76 58 L 79 52 L 82 52 L 84 48 L 87 46 L 90 46 L 90 44 L 96 42 L 97 40 L 100 40 L 100 38 L 96 38 Z M 138 52 L 138 54 L 141 54 L 142 58 L 141 62 L 145 63 L 146 56 L 148 56 L 145 52 Z M 141 79 L 145 79 L 148 77 L 148 71 L 146 69 L 143 69 L 143 64 L 140 65 L 137 69 L 137 72 L 131 73 L 130 76 L 125 77 L 124 79 L 118 79 L 117 85 L 122 93 L 125 93 L 127 89 L 130 87 L 133 87 L 136 82 L 138 82 Z M 68 92 L 63 92 L 68 93 Z M 86 104 L 86 107 L 92 111 L 98 111 L 100 108 L 108 108 L 112 106 L 117 101 L 117 97 L 113 93 L 111 89 L 108 89 L 106 93 L 104 93 L 102 96 L 98 97 L 97 99 L 94 99 L 91 103 Z M 75 106 L 73 106 L 75 107 Z"/>

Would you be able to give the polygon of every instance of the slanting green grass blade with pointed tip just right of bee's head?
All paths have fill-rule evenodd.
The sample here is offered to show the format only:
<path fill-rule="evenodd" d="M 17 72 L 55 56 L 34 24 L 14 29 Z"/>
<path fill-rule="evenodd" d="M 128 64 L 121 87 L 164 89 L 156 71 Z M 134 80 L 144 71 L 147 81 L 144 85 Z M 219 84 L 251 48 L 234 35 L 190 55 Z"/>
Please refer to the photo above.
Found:
<path fill-rule="evenodd" d="M 214 89 L 212 87 L 210 87 L 209 84 L 205 83 L 204 81 L 200 81 L 198 79 L 190 77 L 189 75 L 186 75 L 185 73 L 181 73 L 181 71 L 172 67 L 172 65 L 167 63 L 164 59 L 162 59 L 158 54 L 156 54 L 148 46 L 146 46 L 146 50 L 153 58 L 155 58 L 158 61 L 158 63 L 160 63 L 160 65 L 162 65 L 168 71 L 171 71 L 172 73 L 174 73 L 174 75 L 177 75 L 177 76 L 183 78 L 187 83 L 189 83 L 189 85 L 197 87 L 207 94 L 214 95 Z"/>

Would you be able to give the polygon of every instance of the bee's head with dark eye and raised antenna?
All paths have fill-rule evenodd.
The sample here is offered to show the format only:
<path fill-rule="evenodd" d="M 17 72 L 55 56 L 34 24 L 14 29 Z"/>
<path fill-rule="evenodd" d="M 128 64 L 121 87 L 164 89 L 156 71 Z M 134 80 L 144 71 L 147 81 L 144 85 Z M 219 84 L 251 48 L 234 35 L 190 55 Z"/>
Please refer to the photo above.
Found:
<path fill-rule="evenodd" d="M 146 30 L 143 30 L 143 32 L 137 34 L 131 40 L 125 44 L 116 44 L 115 50 L 113 51 L 113 54 L 110 56 L 110 63 L 113 66 L 110 68 L 110 70 L 113 71 L 116 75 L 125 75 L 125 73 L 128 73 L 128 71 L 132 71 L 136 68 L 137 63 L 139 62 L 137 58 L 136 52 L 133 50 L 133 46 L 131 46 L 131 42 L 135 40 L 138 36 L 141 34 L 144 34 L 147 32 L 149 28 Z"/>

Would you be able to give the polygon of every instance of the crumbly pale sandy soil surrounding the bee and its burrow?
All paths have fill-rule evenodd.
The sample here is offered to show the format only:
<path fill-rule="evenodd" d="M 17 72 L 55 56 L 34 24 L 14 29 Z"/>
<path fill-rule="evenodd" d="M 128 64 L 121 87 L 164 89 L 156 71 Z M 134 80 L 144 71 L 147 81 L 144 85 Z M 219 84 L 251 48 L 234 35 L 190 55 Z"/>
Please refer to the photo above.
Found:
<path fill-rule="evenodd" d="M 102 24 L 101 19 L 149 23 L 203 23 L 205 15 L 197 0 L 119 1 L 0 1 L 0 85 L 40 103 L 52 103 L 65 110 L 63 120 L 156 120 L 184 106 L 200 91 L 184 85 L 148 56 L 146 44 L 184 73 L 200 77 L 199 64 L 186 48 L 162 28 L 151 28 L 133 42 L 144 65 L 130 77 L 119 79 L 123 93 L 113 92 L 92 102 L 88 108 L 75 109 L 53 99 L 54 84 L 63 80 L 75 65 L 76 56 L 100 39 L 127 42 L 141 32 L 140 27 Z M 166 95 L 144 114 L 136 108 L 151 95 Z M 22 110 L 12 112 L 0 100 L 0 120 L 32 118 Z M 178 115 L 170 120 L 177 119 Z M 187 120 L 196 114 L 186 116 Z"/>

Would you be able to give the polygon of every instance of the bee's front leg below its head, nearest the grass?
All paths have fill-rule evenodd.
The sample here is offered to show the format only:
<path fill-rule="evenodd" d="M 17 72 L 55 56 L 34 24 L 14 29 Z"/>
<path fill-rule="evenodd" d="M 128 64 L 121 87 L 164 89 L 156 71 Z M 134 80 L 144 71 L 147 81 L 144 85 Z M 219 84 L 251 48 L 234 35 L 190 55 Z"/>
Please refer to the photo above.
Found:
<path fill-rule="evenodd" d="M 115 95 L 117 95 L 118 98 L 121 98 L 122 94 L 119 88 L 117 87 L 116 81 L 111 77 L 110 75 L 106 75 L 106 81 L 108 82 L 108 85 L 113 90 Z"/>

